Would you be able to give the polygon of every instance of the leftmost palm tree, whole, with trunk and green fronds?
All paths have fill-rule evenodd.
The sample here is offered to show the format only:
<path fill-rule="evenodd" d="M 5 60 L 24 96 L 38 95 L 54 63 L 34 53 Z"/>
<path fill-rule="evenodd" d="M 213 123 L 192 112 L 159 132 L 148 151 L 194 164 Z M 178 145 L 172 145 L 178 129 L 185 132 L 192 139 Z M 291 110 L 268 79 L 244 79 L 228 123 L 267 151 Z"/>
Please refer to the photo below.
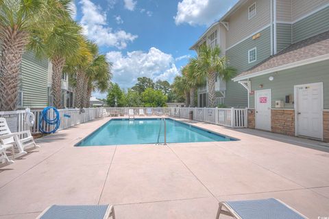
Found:
<path fill-rule="evenodd" d="M 19 69 L 36 30 L 47 30 L 56 16 L 69 15 L 69 0 L 0 1 L 0 111 L 17 107 Z"/>

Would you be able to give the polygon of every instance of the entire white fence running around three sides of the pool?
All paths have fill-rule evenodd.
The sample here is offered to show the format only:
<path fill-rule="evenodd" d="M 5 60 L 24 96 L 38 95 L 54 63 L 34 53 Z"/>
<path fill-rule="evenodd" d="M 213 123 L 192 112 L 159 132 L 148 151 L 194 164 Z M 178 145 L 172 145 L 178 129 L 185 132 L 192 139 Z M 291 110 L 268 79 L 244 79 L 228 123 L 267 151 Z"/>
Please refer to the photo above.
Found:
<path fill-rule="evenodd" d="M 134 114 L 138 115 L 139 110 L 143 109 L 144 114 L 147 114 L 147 108 L 150 107 L 106 107 L 106 108 L 84 108 L 83 110 L 77 108 L 60 109 L 60 127 L 58 130 L 69 128 L 77 124 L 82 124 L 93 119 L 103 117 L 103 110 L 110 116 L 125 116 L 128 110 L 134 109 Z M 193 112 L 193 119 L 200 122 L 208 122 L 210 124 L 217 124 L 220 126 L 227 126 L 232 128 L 247 127 L 247 108 L 186 108 L 186 107 L 157 107 L 151 108 L 153 115 L 167 115 L 171 117 L 179 117 L 189 119 L 189 113 Z M 35 116 L 34 126 L 29 127 L 25 122 L 25 110 L 21 111 L 0 111 L 0 117 L 5 117 L 12 132 L 21 132 L 23 130 L 31 130 L 33 134 L 39 133 L 40 125 L 46 131 L 49 131 L 53 126 L 49 126 L 42 122 L 39 124 L 42 110 L 31 110 Z M 49 117 L 53 117 L 50 114 Z"/>

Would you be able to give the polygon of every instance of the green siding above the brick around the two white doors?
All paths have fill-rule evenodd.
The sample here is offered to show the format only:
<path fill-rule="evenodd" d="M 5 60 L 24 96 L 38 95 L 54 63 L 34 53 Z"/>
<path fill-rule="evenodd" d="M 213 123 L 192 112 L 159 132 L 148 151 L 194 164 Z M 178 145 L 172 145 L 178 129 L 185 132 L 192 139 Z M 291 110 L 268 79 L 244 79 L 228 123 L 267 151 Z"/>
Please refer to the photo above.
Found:
<path fill-rule="evenodd" d="M 309 84 L 315 82 L 324 83 L 324 108 L 329 109 L 329 60 L 296 67 L 280 71 L 276 74 L 269 74 L 251 78 L 252 90 L 259 90 L 259 85 L 263 84 L 263 89 L 271 89 L 272 108 L 275 107 L 276 100 L 284 100 L 285 95 L 291 95 L 293 100 L 293 87 L 298 84 Z M 269 81 L 269 76 L 274 80 Z M 250 95 L 250 107 L 254 108 L 254 95 Z M 284 104 L 284 108 L 294 108 L 293 104 Z"/>

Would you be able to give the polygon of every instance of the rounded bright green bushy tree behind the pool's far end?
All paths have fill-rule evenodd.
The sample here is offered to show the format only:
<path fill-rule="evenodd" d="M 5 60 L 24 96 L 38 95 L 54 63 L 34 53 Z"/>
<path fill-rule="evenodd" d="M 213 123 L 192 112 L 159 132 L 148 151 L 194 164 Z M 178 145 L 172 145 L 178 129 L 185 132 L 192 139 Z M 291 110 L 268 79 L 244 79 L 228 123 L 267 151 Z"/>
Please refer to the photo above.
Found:
<path fill-rule="evenodd" d="M 162 107 L 166 106 L 167 96 L 164 95 L 162 91 L 147 88 L 142 93 L 142 101 L 144 106 Z"/>

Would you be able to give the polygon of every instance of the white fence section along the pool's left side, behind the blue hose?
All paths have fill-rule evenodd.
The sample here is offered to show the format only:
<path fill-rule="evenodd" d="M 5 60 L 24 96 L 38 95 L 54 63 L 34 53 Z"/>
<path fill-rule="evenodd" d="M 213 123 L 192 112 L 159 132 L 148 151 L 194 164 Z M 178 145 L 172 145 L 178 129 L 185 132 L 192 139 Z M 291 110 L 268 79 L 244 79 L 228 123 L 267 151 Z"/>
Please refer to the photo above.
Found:
<path fill-rule="evenodd" d="M 77 108 L 70 109 L 60 109 L 58 112 L 60 113 L 60 127 L 58 130 L 62 130 L 65 128 L 69 128 L 71 126 L 75 126 L 77 124 L 81 124 L 84 122 L 88 122 L 93 119 L 97 119 L 101 117 L 101 108 L 84 108 L 82 111 Z M 45 122 L 39 123 L 42 110 L 31 110 L 35 116 L 34 126 L 29 127 L 25 123 L 25 111 L 1 111 L 0 117 L 5 117 L 8 123 L 8 126 L 12 132 L 21 132 L 23 130 L 31 130 L 32 134 L 40 133 L 40 125 L 43 130 L 49 131 L 53 128 L 53 126 L 49 126 Z M 52 117 L 50 115 L 49 117 Z"/>

